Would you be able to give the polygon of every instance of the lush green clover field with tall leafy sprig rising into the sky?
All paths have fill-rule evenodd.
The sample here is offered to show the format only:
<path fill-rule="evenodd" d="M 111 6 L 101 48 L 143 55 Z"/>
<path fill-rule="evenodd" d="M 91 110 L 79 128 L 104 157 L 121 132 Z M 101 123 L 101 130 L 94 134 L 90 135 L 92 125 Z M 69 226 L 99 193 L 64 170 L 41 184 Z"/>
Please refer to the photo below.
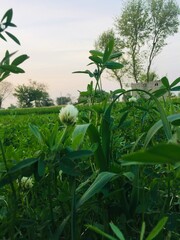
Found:
<path fill-rule="evenodd" d="M 0 112 L 1 239 L 180 238 L 180 78 L 104 94 L 120 56 L 111 39 L 76 71 L 87 104 Z"/>

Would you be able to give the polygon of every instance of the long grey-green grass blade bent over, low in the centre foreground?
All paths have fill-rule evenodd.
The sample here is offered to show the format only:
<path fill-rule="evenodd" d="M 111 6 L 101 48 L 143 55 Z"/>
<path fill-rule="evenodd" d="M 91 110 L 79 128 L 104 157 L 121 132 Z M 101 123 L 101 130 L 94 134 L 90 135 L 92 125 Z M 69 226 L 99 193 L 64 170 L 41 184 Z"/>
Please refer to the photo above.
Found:
<path fill-rule="evenodd" d="M 112 180 L 113 177 L 117 176 L 115 173 L 111 172 L 101 172 L 91 184 L 91 186 L 86 190 L 82 197 L 77 201 L 76 208 L 80 208 L 85 202 L 87 202 L 96 193 L 100 192 L 101 189 Z"/>

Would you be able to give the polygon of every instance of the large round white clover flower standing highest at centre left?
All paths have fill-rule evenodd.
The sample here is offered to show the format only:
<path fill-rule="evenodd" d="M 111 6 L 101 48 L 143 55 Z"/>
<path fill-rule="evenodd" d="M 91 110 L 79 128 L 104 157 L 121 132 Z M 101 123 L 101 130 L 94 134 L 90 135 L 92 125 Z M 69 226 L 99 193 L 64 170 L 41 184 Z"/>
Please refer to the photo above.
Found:
<path fill-rule="evenodd" d="M 67 105 L 61 108 L 59 113 L 60 121 L 65 125 L 72 125 L 76 122 L 78 116 L 78 110 L 73 105 Z"/>

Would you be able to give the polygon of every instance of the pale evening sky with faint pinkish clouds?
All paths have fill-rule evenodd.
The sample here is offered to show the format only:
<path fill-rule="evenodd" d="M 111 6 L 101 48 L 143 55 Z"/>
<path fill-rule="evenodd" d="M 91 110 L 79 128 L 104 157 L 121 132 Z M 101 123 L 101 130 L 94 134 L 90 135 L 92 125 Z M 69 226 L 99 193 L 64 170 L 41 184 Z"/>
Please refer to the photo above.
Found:
<path fill-rule="evenodd" d="M 180 0 L 177 1 L 180 4 Z M 21 67 L 24 74 L 11 75 L 7 81 L 14 87 L 28 84 L 29 80 L 44 83 L 52 99 L 71 96 L 85 91 L 91 79 L 84 74 L 72 74 L 88 69 L 89 50 L 94 49 L 98 36 L 114 25 L 121 14 L 122 0 L 0 0 L 0 16 L 13 9 L 11 28 L 21 46 L 11 39 L 1 41 L 0 57 L 5 51 L 27 54 L 29 59 Z M 0 17 L 1 18 L 1 17 Z M 168 76 L 172 82 L 180 76 L 180 32 L 168 38 L 167 46 L 156 57 L 153 69 L 160 77 Z M 119 84 L 106 77 L 103 89 L 119 88 Z M 16 104 L 8 97 L 3 107 Z"/>

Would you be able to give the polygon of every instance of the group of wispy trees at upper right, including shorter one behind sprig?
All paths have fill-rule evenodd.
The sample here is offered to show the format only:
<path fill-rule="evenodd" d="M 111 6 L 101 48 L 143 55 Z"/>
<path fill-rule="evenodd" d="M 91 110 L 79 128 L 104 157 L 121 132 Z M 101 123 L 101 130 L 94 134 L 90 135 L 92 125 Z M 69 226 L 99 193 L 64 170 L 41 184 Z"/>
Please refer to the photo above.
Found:
<path fill-rule="evenodd" d="M 112 73 L 121 88 L 127 75 L 135 82 L 141 81 L 142 75 L 145 75 L 145 81 L 152 80 L 154 58 L 167 44 L 167 38 L 178 32 L 179 14 L 175 1 L 129 0 L 115 20 L 115 30 L 107 30 L 98 37 L 96 49 L 101 50 L 110 39 L 114 39 L 115 49 L 124 53 L 121 63 L 126 68 Z"/>

